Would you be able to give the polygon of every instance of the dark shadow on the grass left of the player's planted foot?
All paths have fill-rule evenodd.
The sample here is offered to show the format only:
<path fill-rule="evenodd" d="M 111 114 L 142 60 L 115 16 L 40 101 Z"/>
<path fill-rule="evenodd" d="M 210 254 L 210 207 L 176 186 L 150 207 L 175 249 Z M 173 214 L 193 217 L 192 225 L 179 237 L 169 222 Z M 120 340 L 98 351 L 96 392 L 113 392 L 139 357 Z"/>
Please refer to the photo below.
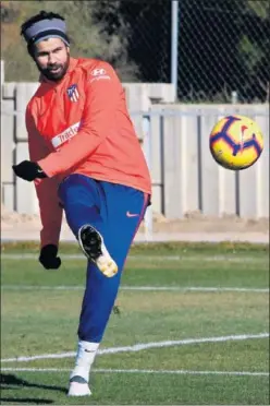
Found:
<path fill-rule="evenodd" d="M 36 387 L 41 390 L 48 390 L 48 391 L 57 391 L 66 393 L 66 389 L 62 386 L 54 386 L 54 385 L 45 385 L 39 383 L 33 383 L 29 381 L 26 381 L 22 378 L 17 378 L 13 374 L 5 374 L 1 373 L 0 375 L 0 383 L 1 383 L 1 395 L 3 394 L 4 390 L 11 390 L 11 389 L 20 389 L 20 386 L 23 387 Z M 53 401 L 50 399 L 42 399 L 42 398 L 14 398 L 14 397 L 2 397 L 1 396 L 1 404 L 2 402 L 7 403 L 24 403 L 24 404 L 52 404 Z"/>

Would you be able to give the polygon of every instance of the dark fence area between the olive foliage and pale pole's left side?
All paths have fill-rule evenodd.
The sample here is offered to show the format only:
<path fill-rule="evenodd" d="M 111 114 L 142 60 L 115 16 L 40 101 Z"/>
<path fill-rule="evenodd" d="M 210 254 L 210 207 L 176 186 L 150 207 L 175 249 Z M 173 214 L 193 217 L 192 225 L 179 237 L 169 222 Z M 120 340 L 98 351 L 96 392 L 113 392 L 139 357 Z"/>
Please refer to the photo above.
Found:
<path fill-rule="evenodd" d="M 170 82 L 171 1 L 100 0 L 99 4 L 97 21 L 110 34 L 123 33 L 135 80 Z"/>

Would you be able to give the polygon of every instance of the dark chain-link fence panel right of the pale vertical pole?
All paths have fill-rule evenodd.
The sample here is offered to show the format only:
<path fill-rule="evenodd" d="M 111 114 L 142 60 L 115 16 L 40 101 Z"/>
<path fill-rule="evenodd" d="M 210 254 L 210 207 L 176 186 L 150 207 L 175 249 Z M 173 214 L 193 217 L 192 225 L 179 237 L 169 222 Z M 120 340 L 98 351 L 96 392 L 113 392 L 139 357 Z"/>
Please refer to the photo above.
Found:
<path fill-rule="evenodd" d="M 270 1 L 180 0 L 179 97 L 266 101 Z"/>

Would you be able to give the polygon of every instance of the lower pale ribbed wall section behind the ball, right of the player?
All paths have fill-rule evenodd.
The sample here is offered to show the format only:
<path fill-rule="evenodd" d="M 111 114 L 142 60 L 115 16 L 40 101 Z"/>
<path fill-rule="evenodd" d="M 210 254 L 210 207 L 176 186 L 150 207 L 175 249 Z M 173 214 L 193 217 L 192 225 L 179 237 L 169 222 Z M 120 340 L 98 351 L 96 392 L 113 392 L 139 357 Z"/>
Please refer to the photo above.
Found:
<path fill-rule="evenodd" d="M 163 109 L 160 115 L 160 110 Z M 168 218 L 200 211 L 207 216 L 269 217 L 269 106 L 158 105 L 151 111 L 154 207 Z M 214 123 L 231 114 L 256 120 L 265 135 L 260 159 L 235 172 L 209 151 Z"/>

